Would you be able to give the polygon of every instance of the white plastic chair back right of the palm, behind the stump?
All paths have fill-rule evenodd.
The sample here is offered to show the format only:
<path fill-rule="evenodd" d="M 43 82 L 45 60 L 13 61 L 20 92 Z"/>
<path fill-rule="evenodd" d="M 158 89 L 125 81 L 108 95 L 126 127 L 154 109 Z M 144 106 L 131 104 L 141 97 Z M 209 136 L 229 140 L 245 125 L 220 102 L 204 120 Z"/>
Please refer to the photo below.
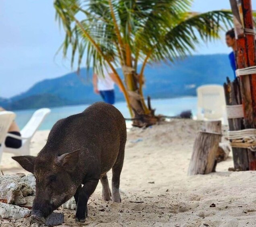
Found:
<path fill-rule="evenodd" d="M 227 124 L 224 88 L 221 85 L 209 84 L 197 88 L 197 119 L 221 120 Z"/>

